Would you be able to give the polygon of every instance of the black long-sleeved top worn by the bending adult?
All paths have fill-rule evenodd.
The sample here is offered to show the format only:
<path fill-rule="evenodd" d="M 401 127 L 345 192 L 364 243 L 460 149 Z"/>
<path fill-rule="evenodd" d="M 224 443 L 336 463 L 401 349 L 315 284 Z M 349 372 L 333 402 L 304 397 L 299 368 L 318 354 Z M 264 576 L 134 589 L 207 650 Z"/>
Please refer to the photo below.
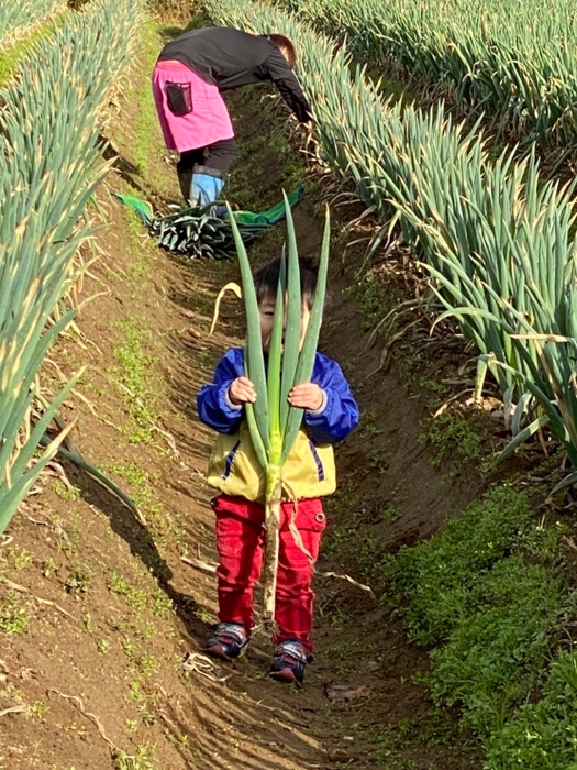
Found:
<path fill-rule="evenodd" d="M 221 91 L 273 80 L 301 123 L 311 118 L 309 102 L 292 69 L 266 35 L 226 26 L 192 30 L 165 45 L 158 61 L 166 59 L 181 62 Z"/>

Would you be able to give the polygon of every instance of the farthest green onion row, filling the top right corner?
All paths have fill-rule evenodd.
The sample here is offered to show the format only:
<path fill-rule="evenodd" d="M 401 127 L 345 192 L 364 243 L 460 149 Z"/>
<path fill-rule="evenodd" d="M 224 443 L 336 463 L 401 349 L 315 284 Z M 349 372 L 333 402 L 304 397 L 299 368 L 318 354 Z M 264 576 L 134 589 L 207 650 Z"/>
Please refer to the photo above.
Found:
<path fill-rule="evenodd" d="M 356 56 L 484 112 L 509 141 L 575 145 L 573 0 L 278 0 Z"/>

